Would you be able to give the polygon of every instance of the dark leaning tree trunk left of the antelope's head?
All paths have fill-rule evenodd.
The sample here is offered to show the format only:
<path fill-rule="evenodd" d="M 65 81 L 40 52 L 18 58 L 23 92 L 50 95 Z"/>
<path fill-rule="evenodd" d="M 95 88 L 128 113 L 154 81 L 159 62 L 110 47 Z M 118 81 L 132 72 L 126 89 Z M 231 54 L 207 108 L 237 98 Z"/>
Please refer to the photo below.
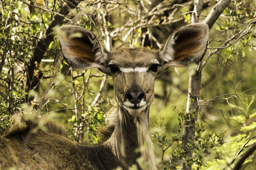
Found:
<path fill-rule="evenodd" d="M 40 76 L 42 75 L 34 75 L 34 71 L 36 66 L 39 66 L 42 58 L 44 57 L 44 53 L 46 52 L 48 46 L 52 42 L 54 38 L 54 34 L 52 34 L 52 29 L 56 25 L 63 24 L 63 20 L 65 16 L 69 13 L 70 10 L 76 8 L 81 0 L 69 0 L 66 1 L 67 4 L 62 6 L 60 10 L 58 10 L 58 14 L 55 15 L 54 19 L 52 20 L 51 24 L 45 31 L 45 35 L 43 36 L 40 41 L 38 41 L 35 50 L 33 52 L 33 57 L 30 60 L 28 66 L 28 74 L 27 74 L 27 82 L 26 82 L 26 102 L 28 102 L 29 97 L 29 90 L 33 89 L 36 85 L 38 85 L 40 81 Z"/>

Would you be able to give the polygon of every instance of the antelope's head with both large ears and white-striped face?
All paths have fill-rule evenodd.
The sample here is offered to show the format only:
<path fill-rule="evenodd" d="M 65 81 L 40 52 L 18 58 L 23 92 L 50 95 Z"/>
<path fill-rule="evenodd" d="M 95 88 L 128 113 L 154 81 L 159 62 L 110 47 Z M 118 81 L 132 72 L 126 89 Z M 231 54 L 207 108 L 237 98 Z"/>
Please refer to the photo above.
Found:
<path fill-rule="evenodd" d="M 118 106 L 140 116 L 154 98 L 156 75 L 170 66 L 186 67 L 199 62 L 207 46 L 209 28 L 199 23 L 181 27 L 160 51 L 147 48 L 106 50 L 95 35 L 79 26 L 60 27 L 61 50 L 70 66 L 98 68 L 113 78 Z"/>

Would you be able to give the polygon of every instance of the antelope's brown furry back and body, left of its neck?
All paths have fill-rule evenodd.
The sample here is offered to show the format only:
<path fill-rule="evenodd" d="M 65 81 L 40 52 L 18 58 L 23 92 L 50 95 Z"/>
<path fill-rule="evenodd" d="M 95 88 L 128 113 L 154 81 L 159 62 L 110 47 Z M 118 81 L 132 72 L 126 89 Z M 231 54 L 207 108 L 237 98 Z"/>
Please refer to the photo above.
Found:
<path fill-rule="evenodd" d="M 0 150 L 4 153 L 0 156 L 0 169 L 113 169 L 120 166 L 108 146 L 77 145 L 67 138 L 61 125 L 32 116 L 32 120 L 27 120 L 21 113 L 14 115 L 10 131 L 0 136 Z M 38 127 L 42 120 L 45 131 Z M 109 162 L 104 157 L 113 159 Z"/>

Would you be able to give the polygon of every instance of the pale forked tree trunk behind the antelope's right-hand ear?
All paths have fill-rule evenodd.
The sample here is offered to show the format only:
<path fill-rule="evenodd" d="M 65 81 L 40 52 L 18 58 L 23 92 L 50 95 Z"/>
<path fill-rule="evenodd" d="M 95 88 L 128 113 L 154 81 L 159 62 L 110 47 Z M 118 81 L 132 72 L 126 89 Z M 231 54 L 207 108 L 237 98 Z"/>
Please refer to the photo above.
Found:
<path fill-rule="evenodd" d="M 204 1 L 195 0 L 194 14 L 192 16 L 192 22 L 198 22 L 202 4 Z M 212 25 L 216 22 L 221 13 L 230 3 L 230 0 L 220 0 L 211 10 L 205 23 L 209 25 L 211 29 Z M 189 89 L 188 89 L 188 101 L 186 106 L 186 120 L 183 129 L 182 138 L 182 150 L 186 155 L 185 161 L 180 164 L 180 169 L 190 170 L 193 166 L 193 145 L 195 141 L 195 123 L 198 116 L 198 101 L 201 87 L 202 69 L 198 66 L 195 72 L 189 76 Z"/>

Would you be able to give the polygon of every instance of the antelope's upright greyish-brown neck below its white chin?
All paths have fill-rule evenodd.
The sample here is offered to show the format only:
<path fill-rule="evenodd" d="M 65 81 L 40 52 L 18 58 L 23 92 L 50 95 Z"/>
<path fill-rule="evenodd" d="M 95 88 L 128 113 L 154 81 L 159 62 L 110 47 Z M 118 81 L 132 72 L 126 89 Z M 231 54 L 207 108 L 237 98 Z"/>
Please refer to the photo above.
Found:
<path fill-rule="evenodd" d="M 111 145 L 114 155 L 125 167 L 137 164 L 136 160 L 142 157 L 143 165 L 156 169 L 148 116 L 149 108 L 141 113 L 141 117 L 134 117 L 118 108 L 115 131 L 106 143 Z"/>

